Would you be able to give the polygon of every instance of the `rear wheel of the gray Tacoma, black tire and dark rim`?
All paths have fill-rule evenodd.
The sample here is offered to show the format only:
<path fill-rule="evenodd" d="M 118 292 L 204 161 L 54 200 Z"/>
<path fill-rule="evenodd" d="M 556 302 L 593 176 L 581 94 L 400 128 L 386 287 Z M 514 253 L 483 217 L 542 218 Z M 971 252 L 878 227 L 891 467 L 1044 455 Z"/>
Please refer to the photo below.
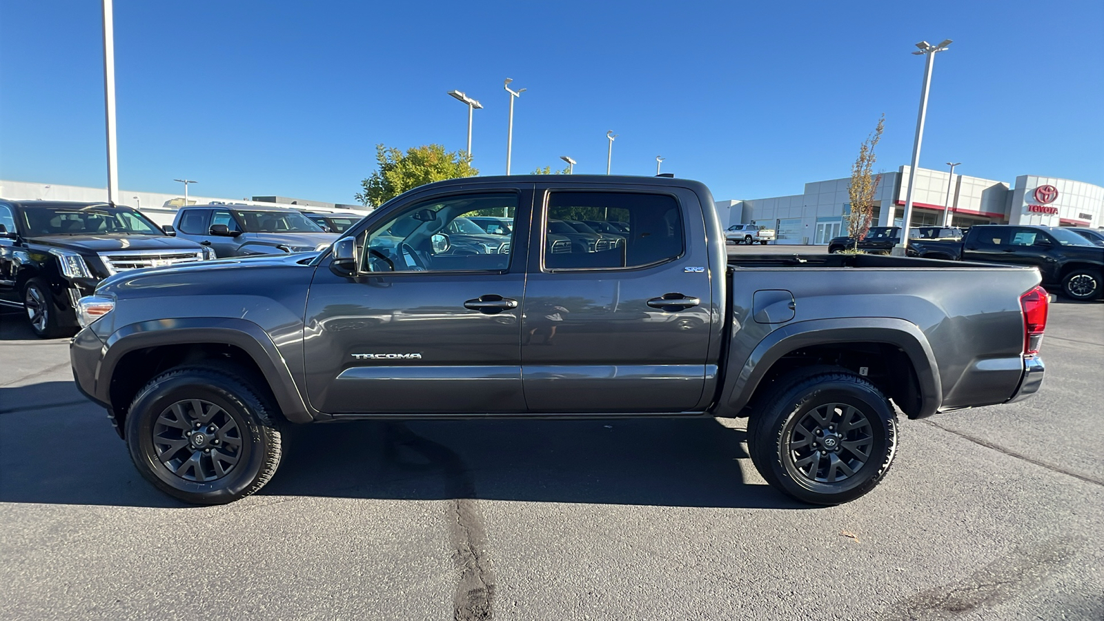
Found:
<path fill-rule="evenodd" d="M 760 401 L 747 424 L 747 449 L 763 478 L 787 496 L 838 505 L 885 476 L 896 453 L 896 412 L 851 371 L 804 369 L 776 381 Z"/>

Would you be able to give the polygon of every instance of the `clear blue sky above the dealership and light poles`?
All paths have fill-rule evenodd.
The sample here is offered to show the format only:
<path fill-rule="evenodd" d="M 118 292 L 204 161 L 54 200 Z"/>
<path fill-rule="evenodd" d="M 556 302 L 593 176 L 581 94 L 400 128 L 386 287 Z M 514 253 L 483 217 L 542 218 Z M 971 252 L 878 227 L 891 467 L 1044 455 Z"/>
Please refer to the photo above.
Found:
<path fill-rule="evenodd" d="M 0 178 L 106 186 L 95 0 L 0 2 Z M 115 1 L 119 181 L 142 191 L 353 202 L 374 145 L 465 148 L 482 175 L 664 171 L 718 199 L 846 177 L 885 114 L 877 168 L 1104 185 L 1104 3 Z"/>

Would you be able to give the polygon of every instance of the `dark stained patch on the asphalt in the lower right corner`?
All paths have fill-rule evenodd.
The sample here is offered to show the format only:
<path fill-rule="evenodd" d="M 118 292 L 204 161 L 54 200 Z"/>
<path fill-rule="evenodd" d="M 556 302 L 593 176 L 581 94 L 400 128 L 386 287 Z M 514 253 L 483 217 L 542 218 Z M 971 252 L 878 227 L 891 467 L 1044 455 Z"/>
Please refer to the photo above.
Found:
<path fill-rule="evenodd" d="M 1013 549 L 965 579 L 926 589 L 891 604 L 882 617 L 892 621 L 951 619 L 980 607 L 990 608 L 1012 596 L 1038 589 L 1061 566 L 1073 559 L 1071 539 L 1039 541 Z"/>

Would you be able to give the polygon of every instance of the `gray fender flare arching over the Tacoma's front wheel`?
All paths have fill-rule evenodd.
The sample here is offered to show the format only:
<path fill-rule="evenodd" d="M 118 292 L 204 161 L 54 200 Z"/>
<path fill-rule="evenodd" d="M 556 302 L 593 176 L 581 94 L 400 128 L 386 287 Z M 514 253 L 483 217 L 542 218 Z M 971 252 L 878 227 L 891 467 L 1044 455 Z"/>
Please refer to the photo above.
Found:
<path fill-rule="evenodd" d="M 110 402 L 110 378 L 119 360 L 130 351 L 161 345 L 200 343 L 233 345 L 245 351 L 264 373 L 287 420 L 315 420 L 287 362 L 268 334 L 257 324 L 236 317 L 153 319 L 129 324 L 115 330 L 105 339 L 104 358 L 96 372 L 96 399 Z"/>

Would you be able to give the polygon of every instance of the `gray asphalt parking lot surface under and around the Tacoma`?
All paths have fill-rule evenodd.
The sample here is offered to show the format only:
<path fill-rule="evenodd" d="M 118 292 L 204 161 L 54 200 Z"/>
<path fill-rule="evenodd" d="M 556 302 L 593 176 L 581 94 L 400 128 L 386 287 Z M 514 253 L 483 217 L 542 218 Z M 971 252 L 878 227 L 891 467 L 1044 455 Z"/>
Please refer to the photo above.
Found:
<path fill-rule="evenodd" d="M 1040 393 L 902 420 L 831 508 L 712 420 L 315 425 L 259 494 L 190 507 L 67 340 L 0 309 L 0 356 L 4 619 L 1104 618 L 1104 304 L 1051 306 Z"/>

